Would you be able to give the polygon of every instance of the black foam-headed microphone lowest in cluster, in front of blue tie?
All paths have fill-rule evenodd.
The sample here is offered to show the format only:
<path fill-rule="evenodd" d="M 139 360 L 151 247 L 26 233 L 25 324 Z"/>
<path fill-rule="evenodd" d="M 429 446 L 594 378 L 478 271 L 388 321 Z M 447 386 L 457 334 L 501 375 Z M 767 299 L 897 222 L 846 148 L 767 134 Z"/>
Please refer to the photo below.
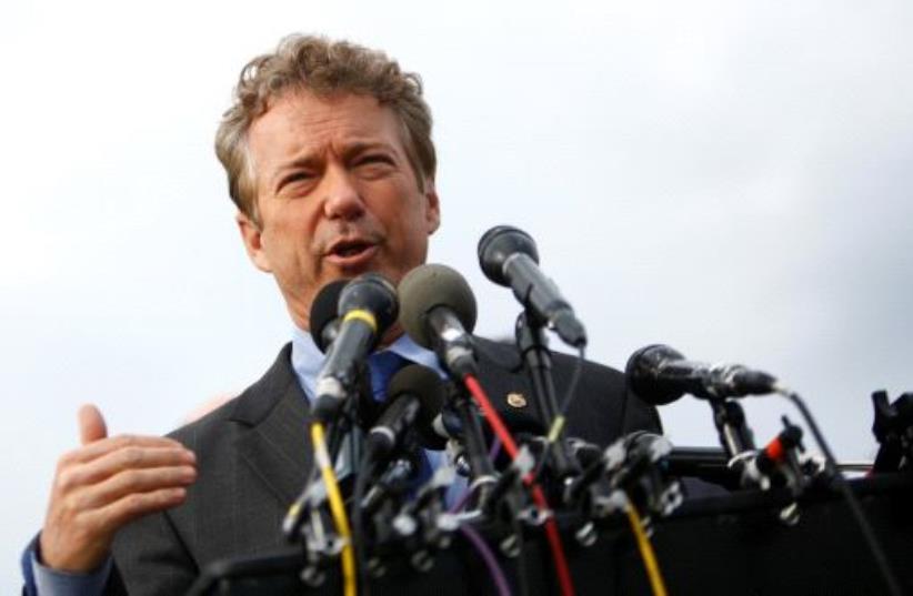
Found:
<path fill-rule="evenodd" d="M 444 384 L 438 373 L 420 364 L 403 366 L 390 380 L 385 404 L 368 433 L 373 457 L 387 457 L 412 428 L 424 447 L 443 448 L 444 441 L 432 426 L 444 405 Z"/>

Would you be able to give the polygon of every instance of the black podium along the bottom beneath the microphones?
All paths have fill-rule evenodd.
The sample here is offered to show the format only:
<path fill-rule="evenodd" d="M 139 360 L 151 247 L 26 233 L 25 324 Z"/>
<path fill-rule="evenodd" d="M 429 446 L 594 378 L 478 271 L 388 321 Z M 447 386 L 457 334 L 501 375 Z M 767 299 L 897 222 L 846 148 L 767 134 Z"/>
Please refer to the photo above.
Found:
<path fill-rule="evenodd" d="M 905 593 L 913 594 L 913 477 L 885 474 L 851 482 Z M 827 595 L 877 596 L 886 588 L 859 527 L 836 493 L 810 492 L 799 502 L 799 522 L 789 526 L 777 512 L 790 503 L 780 492 L 745 491 L 685 501 L 653 524 L 652 543 L 671 596 Z M 494 548 L 494 544 L 492 544 Z M 565 533 L 576 594 L 650 595 L 643 563 L 623 521 L 599 528 L 595 544 L 579 545 Z M 496 550 L 496 549 L 495 549 Z M 531 596 L 559 594 L 544 537 L 525 541 L 525 584 Z M 520 560 L 499 554 L 513 594 Z M 302 583 L 299 549 L 210 565 L 193 596 L 278 596 L 341 594 L 339 567 L 328 569 L 318 588 Z M 454 534 L 427 573 L 390 569 L 371 582 L 372 596 L 494 595 L 483 562 Z"/>

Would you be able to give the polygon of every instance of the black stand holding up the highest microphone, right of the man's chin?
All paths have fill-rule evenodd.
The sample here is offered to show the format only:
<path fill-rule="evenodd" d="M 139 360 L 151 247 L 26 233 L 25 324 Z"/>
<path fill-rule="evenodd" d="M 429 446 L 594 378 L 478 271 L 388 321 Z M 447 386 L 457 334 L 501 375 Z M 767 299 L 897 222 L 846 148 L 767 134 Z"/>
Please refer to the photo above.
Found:
<path fill-rule="evenodd" d="M 555 397 L 554 378 L 552 378 L 552 354 L 549 350 L 549 340 L 545 336 L 545 325 L 539 317 L 526 311 L 520 313 L 516 317 L 514 333 L 516 347 L 523 355 L 526 374 L 532 381 L 538 414 L 545 423 L 545 430 L 548 431 L 551 428 L 560 408 Z M 543 457 L 549 456 L 551 456 L 555 475 L 561 481 L 580 472 L 580 468 L 568 453 L 561 434 L 543 454 Z"/>

